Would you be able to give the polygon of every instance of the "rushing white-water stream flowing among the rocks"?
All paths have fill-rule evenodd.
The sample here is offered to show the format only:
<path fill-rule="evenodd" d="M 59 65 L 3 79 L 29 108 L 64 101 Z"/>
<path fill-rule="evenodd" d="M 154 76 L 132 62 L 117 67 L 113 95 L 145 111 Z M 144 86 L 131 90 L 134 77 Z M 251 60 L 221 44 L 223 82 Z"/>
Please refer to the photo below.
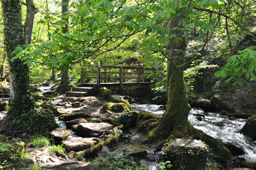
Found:
<path fill-rule="evenodd" d="M 117 96 L 120 97 L 120 96 Z M 131 104 L 132 110 L 136 111 L 149 111 L 159 116 L 162 116 L 164 111 L 161 110 L 160 106 L 162 105 L 155 105 L 155 104 Z M 193 114 L 201 113 L 205 114 L 205 121 L 198 121 L 196 116 Z M 204 112 L 201 109 L 192 108 L 189 112 L 188 116 L 189 122 L 197 129 L 202 130 L 206 134 L 223 141 L 225 143 L 232 143 L 235 146 L 243 147 L 245 150 L 244 155 L 240 155 L 239 157 L 245 159 L 256 159 L 256 141 L 252 141 L 250 138 L 240 134 L 239 131 L 243 128 L 246 119 L 237 119 L 236 121 L 231 121 L 228 119 L 227 116 L 221 116 L 218 113 L 211 113 L 211 112 Z M 66 124 L 63 121 L 59 121 L 56 118 L 57 123 L 62 128 L 66 128 Z M 140 164 L 144 164 L 150 170 L 157 170 L 157 163 L 159 162 L 158 152 L 154 151 L 153 146 L 150 145 L 142 145 L 137 142 L 140 138 L 136 133 L 132 131 L 124 132 L 124 136 L 128 136 L 129 140 L 124 139 L 117 144 L 114 144 L 111 147 L 103 147 L 102 150 L 99 152 L 98 157 L 106 158 L 108 153 L 111 152 L 115 155 L 116 158 L 121 156 L 126 156 L 124 150 L 127 148 L 132 149 L 136 147 L 146 148 L 147 153 L 145 157 L 140 158 Z M 68 139 L 78 137 L 75 135 L 75 132 L 71 130 L 71 134 L 68 136 Z M 137 139 L 137 140 L 136 140 Z"/>

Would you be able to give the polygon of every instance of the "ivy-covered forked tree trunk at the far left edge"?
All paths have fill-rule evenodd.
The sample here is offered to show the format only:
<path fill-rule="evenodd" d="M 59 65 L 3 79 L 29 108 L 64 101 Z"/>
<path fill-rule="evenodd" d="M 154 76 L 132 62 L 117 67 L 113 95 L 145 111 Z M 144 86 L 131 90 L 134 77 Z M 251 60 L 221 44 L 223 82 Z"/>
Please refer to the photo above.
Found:
<path fill-rule="evenodd" d="M 33 0 L 26 0 L 27 20 L 24 27 L 25 41 L 22 37 L 23 29 L 21 23 L 21 6 L 19 0 L 1 0 L 4 17 L 4 42 L 8 59 L 10 75 L 10 110 L 7 115 L 9 126 L 16 122 L 25 110 L 33 108 L 33 102 L 28 93 L 29 67 L 20 59 L 11 61 L 14 56 L 12 51 L 19 45 L 31 42 L 33 19 L 35 16 L 35 5 Z M 30 36 L 30 38 L 29 38 Z M 19 107 L 17 107 L 19 106 Z M 16 120 L 17 119 L 17 120 Z"/>

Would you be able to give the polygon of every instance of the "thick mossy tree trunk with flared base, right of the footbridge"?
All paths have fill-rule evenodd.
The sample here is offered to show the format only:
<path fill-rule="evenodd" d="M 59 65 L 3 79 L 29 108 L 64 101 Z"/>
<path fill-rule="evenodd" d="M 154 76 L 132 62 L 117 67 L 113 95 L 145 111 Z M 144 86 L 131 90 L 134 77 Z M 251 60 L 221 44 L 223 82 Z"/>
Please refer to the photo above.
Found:
<path fill-rule="evenodd" d="M 169 35 L 176 34 L 181 37 L 184 31 L 173 30 L 178 26 L 178 22 L 183 16 L 171 18 L 169 22 Z M 177 37 L 177 36 L 176 36 Z M 172 38 L 167 45 L 168 59 L 175 63 L 175 66 L 180 66 L 184 63 L 186 42 L 183 38 L 178 43 Z M 179 53 L 173 51 L 179 50 Z M 144 142 L 153 142 L 159 139 L 167 139 L 173 136 L 174 138 L 188 138 L 191 132 L 191 124 L 188 121 L 188 99 L 187 88 L 184 80 L 184 67 L 175 68 L 173 63 L 168 61 L 167 69 L 167 89 L 168 89 L 168 102 L 166 110 L 157 122 L 157 127 L 148 133 Z"/>

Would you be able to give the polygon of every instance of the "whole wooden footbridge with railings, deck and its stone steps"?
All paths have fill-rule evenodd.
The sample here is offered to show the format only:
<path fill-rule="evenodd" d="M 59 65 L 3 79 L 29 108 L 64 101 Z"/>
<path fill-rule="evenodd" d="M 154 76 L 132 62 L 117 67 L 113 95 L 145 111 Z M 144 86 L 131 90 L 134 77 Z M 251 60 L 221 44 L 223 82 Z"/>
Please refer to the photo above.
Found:
<path fill-rule="evenodd" d="M 152 78 L 147 78 L 152 72 L 154 73 L 155 70 L 135 66 L 85 65 L 81 68 L 79 87 L 73 88 L 72 92 L 67 92 L 66 95 L 82 97 L 88 90 L 92 88 L 99 90 L 102 87 L 107 89 L 146 88 L 154 83 L 151 82 Z M 127 79 L 133 81 L 127 82 Z M 84 80 L 94 81 L 94 83 L 85 83 Z"/>

